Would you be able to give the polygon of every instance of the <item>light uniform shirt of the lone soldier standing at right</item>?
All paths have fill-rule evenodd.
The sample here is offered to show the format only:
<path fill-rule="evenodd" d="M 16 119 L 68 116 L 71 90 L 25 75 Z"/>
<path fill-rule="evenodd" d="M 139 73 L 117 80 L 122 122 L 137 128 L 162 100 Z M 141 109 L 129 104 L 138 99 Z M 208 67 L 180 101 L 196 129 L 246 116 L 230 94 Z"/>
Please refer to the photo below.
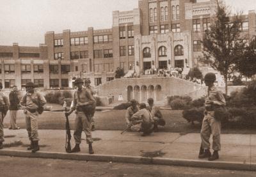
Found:
<path fill-rule="evenodd" d="M 208 104 L 209 100 L 211 100 L 214 105 L 226 105 L 223 94 L 216 88 L 216 86 L 212 86 L 212 88 L 208 89 L 208 93 L 205 96 L 205 107 L 211 106 L 211 104 Z"/>

